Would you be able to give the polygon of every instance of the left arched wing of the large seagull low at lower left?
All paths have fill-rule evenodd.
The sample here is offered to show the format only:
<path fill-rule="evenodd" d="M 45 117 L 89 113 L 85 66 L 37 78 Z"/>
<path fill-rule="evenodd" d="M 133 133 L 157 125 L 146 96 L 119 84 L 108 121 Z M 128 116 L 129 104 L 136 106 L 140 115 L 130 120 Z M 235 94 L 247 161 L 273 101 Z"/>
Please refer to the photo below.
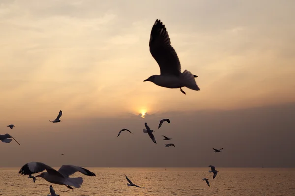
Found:
<path fill-rule="evenodd" d="M 29 162 L 26 163 L 19 171 L 19 173 L 21 173 L 21 175 L 31 175 L 34 173 L 39 173 L 46 170 L 49 174 L 51 175 L 56 175 L 59 177 L 64 178 L 64 176 L 59 173 L 58 171 L 56 171 L 55 169 L 53 169 L 52 167 L 41 163 L 41 162 Z"/>

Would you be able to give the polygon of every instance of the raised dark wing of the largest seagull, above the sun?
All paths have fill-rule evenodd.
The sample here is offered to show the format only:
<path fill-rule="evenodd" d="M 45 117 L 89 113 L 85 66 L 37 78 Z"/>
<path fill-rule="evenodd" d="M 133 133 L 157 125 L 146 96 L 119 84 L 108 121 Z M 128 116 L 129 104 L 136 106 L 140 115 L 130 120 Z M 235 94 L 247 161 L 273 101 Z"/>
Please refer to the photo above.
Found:
<path fill-rule="evenodd" d="M 180 75 L 179 58 L 170 44 L 168 32 L 161 20 L 157 19 L 151 29 L 149 51 L 159 64 L 161 75 Z"/>

